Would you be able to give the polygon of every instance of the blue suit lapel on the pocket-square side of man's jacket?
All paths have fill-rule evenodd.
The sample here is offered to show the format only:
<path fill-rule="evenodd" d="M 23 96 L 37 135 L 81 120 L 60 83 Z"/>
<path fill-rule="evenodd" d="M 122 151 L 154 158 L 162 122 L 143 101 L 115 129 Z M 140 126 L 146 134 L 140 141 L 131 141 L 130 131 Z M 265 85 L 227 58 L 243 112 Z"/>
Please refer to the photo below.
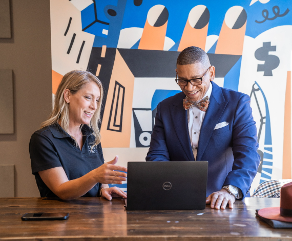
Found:
<path fill-rule="evenodd" d="M 221 88 L 214 82 L 211 83 L 213 85 L 213 89 L 210 97 L 210 104 L 206 111 L 200 130 L 196 160 L 201 160 L 206 146 L 212 136 L 213 130 L 228 103 L 228 101 L 225 101 Z"/>

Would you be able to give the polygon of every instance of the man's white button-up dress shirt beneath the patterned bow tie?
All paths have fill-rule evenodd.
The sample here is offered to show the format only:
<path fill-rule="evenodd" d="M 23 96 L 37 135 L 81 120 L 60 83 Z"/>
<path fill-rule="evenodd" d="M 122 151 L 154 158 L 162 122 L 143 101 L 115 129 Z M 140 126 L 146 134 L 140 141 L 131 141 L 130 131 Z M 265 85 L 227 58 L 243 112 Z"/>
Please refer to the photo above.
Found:
<path fill-rule="evenodd" d="M 212 84 L 210 83 L 209 89 L 207 90 L 204 97 L 210 98 L 212 92 Z M 203 97 L 203 98 L 204 98 Z M 195 159 L 197 158 L 197 149 L 200 137 L 201 126 L 205 117 L 204 111 L 201 111 L 197 106 L 194 106 L 187 111 L 187 127 L 189 128 L 189 136 L 191 140 L 191 146 Z"/>

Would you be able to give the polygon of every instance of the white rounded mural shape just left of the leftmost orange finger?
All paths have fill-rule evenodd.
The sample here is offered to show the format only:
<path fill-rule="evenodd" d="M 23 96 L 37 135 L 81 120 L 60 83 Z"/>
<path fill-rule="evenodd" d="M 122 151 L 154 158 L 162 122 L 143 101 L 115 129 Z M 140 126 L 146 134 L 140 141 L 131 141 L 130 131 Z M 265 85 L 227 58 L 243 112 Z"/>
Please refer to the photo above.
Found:
<path fill-rule="evenodd" d="M 142 37 L 142 28 L 125 28 L 120 31 L 117 48 L 131 49 Z"/>

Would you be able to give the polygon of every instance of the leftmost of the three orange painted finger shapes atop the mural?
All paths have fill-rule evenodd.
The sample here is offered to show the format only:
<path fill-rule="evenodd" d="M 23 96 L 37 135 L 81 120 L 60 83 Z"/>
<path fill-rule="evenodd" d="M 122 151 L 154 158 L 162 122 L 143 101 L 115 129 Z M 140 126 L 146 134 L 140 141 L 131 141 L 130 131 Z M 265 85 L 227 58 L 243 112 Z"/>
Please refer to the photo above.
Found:
<path fill-rule="evenodd" d="M 138 49 L 163 50 L 168 21 L 160 27 L 153 27 L 146 19 Z"/>

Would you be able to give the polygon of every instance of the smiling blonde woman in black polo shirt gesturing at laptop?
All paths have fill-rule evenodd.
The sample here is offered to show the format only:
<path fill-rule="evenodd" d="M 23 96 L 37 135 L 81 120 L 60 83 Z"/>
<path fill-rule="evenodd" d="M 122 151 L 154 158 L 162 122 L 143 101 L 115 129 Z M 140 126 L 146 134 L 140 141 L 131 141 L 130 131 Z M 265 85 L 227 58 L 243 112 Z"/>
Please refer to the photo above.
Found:
<path fill-rule="evenodd" d="M 74 70 L 62 78 L 51 116 L 30 139 L 32 174 L 41 197 L 127 197 L 108 187 L 122 184 L 127 168 L 115 165 L 117 156 L 108 163 L 103 159 L 98 128 L 102 96 L 102 84 L 90 72 Z"/>

